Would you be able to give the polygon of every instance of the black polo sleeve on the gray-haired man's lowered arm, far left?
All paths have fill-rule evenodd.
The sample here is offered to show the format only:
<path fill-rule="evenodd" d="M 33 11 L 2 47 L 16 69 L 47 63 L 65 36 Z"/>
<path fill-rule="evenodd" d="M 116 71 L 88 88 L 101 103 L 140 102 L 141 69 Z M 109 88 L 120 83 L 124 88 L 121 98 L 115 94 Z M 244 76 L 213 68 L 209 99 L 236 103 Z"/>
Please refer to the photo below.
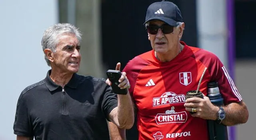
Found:
<path fill-rule="evenodd" d="M 18 99 L 13 129 L 14 134 L 18 136 L 33 136 L 32 123 L 30 121 L 28 111 L 28 104 L 23 93 Z"/>

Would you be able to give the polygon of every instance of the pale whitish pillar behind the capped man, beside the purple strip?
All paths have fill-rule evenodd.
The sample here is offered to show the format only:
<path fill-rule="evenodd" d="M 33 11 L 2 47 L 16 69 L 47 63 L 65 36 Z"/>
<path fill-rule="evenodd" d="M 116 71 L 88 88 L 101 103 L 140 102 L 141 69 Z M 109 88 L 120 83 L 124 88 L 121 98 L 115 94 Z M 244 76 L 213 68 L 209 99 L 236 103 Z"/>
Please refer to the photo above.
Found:
<path fill-rule="evenodd" d="M 228 68 L 226 0 L 196 0 L 196 12 L 198 47 L 216 54 Z"/>

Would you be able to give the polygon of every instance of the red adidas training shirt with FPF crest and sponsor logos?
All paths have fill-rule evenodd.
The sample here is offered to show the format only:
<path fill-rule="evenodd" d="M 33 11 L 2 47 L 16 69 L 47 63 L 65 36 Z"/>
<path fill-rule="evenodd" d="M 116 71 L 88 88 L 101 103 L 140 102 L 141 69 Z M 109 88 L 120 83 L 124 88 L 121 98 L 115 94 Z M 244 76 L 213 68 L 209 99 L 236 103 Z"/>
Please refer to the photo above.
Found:
<path fill-rule="evenodd" d="M 234 82 L 218 57 L 190 47 L 170 62 L 160 62 L 154 51 L 136 56 L 124 68 L 129 89 L 138 109 L 139 140 L 207 140 L 207 122 L 185 110 L 187 91 L 196 90 L 204 68 L 200 91 L 207 95 L 208 82 L 216 81 L 224 103 L 242 100 Z"/>

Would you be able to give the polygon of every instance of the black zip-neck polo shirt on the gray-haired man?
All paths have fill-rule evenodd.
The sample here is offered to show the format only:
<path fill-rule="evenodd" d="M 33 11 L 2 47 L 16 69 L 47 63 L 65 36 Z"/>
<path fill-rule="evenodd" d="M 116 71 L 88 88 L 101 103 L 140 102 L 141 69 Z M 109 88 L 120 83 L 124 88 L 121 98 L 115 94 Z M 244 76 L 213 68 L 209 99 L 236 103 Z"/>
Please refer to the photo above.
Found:
<path fill-rule="evenodd" d="M 105 80 L 73 74 L 62 88 L 50 72 L 20 94 L 14 134 L 36 140 L 109 140 L 106 119 L 117 107 L 117 96 Z"/>

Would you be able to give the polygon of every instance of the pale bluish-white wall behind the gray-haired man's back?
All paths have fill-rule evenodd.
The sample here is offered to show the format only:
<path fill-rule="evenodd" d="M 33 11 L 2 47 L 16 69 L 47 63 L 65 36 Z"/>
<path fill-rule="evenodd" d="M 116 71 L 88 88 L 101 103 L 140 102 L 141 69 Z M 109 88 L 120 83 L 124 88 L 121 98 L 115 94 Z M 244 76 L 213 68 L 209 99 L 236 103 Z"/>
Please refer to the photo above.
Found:
<path fill-rule="evenodd" d="M 21 91 L 45 78 L 41 39 L 58 22 L 57 0 L 0 0 L 0 140 L 14 140 Z"/>

